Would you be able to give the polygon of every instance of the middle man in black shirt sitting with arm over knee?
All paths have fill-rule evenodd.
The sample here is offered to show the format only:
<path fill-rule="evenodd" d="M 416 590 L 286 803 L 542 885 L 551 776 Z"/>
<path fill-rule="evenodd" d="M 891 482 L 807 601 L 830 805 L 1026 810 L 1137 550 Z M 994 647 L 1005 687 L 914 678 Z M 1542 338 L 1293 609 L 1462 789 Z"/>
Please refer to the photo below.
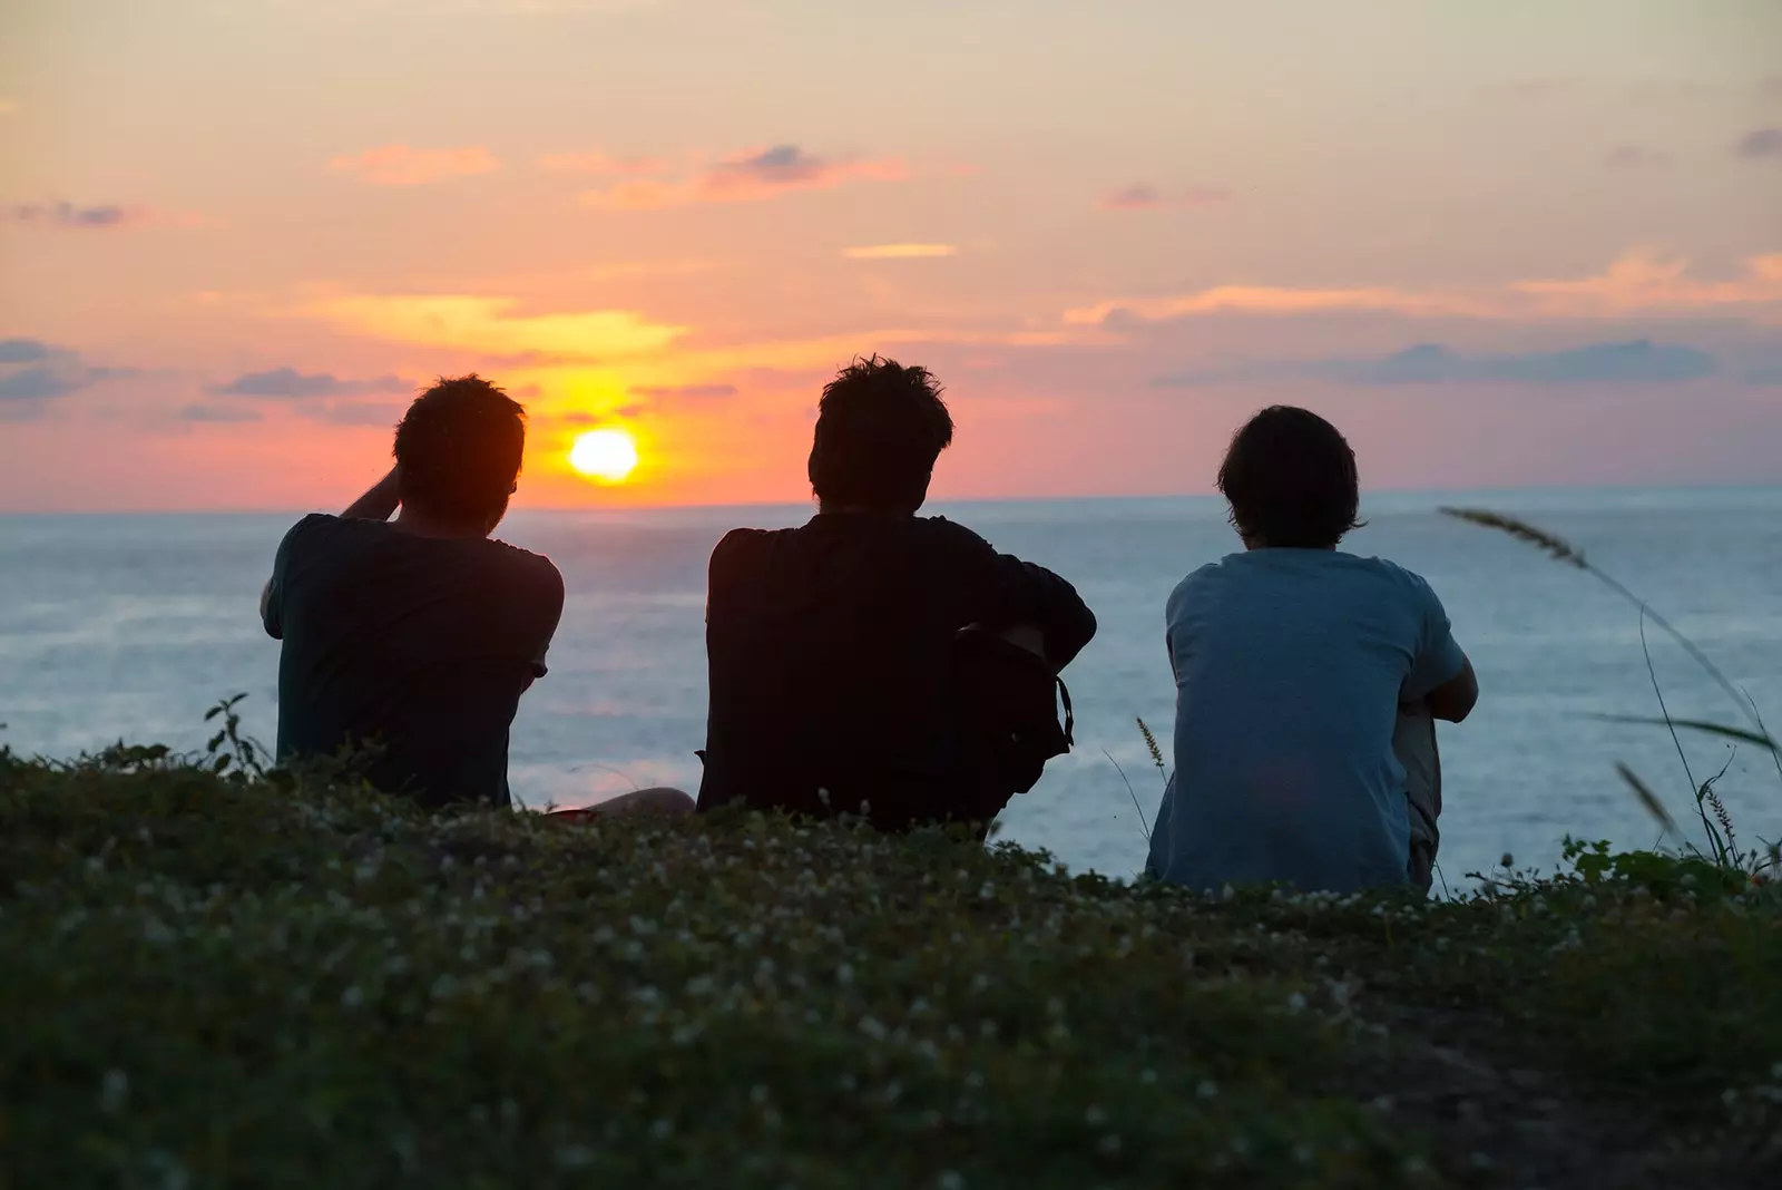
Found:
<path fill-rule="evenodd" d="M 809 463 L 818 515 L 718 543 L 699 809 L 864 807 L 898 830 L 984 819 L 1014 793 L 984 787 L 957 682 L 959 632 L 1025 631 L 1055 673 L 1096 620 L 1050 570 L 916 517 L 952 440 L 925 369 L 855 362 L 823 390 Z"/>

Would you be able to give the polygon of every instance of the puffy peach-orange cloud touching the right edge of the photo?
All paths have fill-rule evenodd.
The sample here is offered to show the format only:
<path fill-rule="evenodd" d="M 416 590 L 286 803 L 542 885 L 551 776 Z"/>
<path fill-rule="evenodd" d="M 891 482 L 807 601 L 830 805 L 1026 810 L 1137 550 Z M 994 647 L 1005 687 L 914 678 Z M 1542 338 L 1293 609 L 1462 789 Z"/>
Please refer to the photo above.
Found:
<path fill-rule="evenodd" d="M 1513 289 L 1533 298 L 1541 314 L 1577 317 L 1782 303 L 1782 253 L 1750 257 L 1741 276 L 1725 281 L 1695 280 L 1688 271 L 1682 257 L 1632 251 L 1600 276 L 1518 281 Z"/>

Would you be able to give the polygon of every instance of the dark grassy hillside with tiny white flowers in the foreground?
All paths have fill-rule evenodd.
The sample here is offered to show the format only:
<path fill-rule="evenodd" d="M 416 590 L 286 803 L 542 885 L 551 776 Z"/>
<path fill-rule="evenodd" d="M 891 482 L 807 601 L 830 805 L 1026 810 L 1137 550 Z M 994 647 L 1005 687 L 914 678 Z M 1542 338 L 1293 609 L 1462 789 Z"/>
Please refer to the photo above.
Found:
<path fill-rule="evenodd" d="M 1199 900 L 0 752 L 0 1185 L 1775 1186 L 1782 892 Z"/>

